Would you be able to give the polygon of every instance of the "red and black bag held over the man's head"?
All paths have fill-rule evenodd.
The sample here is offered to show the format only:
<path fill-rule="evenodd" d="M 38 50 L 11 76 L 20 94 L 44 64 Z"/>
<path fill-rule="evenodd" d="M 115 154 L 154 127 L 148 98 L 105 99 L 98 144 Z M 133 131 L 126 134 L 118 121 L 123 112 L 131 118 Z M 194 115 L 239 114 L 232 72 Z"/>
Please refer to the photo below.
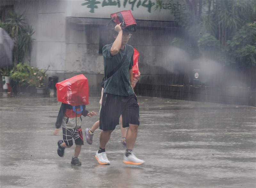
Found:
<path fill-rule="evenodd" d="M 122 23 L 121 26 L 128 31 L 136 31 L 137 24 L 130 10 L 110 14 L 110 17 L 112 18 L 111 21 L 113 20 L 115 23 L 115 26 L 116 24 Z"/>

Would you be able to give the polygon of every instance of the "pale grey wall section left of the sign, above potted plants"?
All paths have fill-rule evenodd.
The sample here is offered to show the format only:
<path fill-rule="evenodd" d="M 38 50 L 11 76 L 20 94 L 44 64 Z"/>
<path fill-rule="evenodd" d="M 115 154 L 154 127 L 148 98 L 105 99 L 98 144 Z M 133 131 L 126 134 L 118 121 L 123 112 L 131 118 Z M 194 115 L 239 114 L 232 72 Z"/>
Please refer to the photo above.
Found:
<path fill-rule="evenodd" d="M 1 1 L 1 6 L 13 5 L 14 11 L 24 14 L 25 22 L 35 33 L 30 65 L 47 69 L 48 76 L 64 79 L 66 59 L 66 1 Z"/>

